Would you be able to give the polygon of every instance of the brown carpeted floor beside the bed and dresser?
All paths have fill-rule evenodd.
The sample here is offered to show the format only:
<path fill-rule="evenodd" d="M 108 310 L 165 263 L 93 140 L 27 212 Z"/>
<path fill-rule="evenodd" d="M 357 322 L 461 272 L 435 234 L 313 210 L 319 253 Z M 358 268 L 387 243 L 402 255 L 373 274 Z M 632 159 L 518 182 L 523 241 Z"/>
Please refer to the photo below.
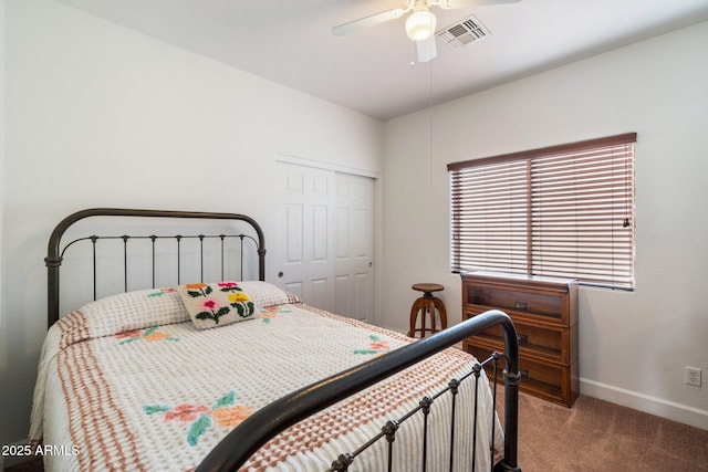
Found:
<path fill-rule="evenodd" d="M 519 465 L 523 472 L 708 471 L 708 431 L 590 397 L 565 408 L 520 394 Z M 7 470 L 42 472 L 42 463 Z"/>

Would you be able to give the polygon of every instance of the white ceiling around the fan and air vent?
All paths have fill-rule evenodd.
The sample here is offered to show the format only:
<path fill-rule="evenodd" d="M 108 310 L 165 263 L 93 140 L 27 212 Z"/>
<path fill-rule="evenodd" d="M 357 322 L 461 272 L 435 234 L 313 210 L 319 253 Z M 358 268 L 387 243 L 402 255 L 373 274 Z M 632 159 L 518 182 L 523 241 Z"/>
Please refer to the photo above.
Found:
<path fill-rule="evenodd" d="M 402 0 L 59 1 L 381 119 L 708 20 L 708 0 L 434 7 L 438 29 L 475 14 L 491 34 L 464 50 L 438 42 L 436 59 L 412 66 L 405 18 L 345 36 L 331 32 Z"/>

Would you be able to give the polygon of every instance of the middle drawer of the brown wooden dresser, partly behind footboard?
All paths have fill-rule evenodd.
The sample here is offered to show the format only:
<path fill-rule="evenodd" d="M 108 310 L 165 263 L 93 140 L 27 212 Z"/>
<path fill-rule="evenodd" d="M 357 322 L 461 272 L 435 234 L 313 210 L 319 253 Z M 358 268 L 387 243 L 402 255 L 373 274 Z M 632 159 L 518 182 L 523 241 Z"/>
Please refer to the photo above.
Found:
<path fill-rule="evenodd" d="M 468 310 L 467 318 L 483 313 L 482 310 Z M 554 325 L 539 325 L 529 323 L 512 315 L 513 325 L 517 328 L 519 350 L 522 355 L 537 357 L 544 360 L 570 364 L 571 353 L 564 346 L 569 345 L 569 331 Z M 494 348 L 503 350 L 504 337 L 500 325 L 485 329 L 475 339 L 485 340 Z"/>

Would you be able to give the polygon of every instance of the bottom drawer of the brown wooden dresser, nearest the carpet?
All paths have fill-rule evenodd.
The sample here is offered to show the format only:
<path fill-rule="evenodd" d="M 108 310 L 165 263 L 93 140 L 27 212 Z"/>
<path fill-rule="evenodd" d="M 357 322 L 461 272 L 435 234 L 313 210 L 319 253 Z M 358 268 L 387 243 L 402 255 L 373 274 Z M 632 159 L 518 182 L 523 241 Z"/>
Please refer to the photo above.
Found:
<path fill-rule="evenodd" d="M 479 360 L 486 359 L 493 352 L 493 349 L 487 347 L 476 346 L 469 340 L 465 343 L 465 350 L 472 354 Z M 504 368 L 506 365 L 502 357 L 497 373 L 499 381 L 503 381 L 502 373 Z M 491 367 L 488 367 L 486 371 L 491 376 Z M 573 387 L 574 384 L 577 382 L 577 378 L 573 376 L 573 373 L 576 373 L 576 364 L 571 366 L 571 368 L 565 368 L 563 366 L 545 364 L 520 356 L 519 371 L 521 374 L 519 388 L 523 392 L 566 407 L 572 406 L 575 398 L 577 398 L 577 388 Z"/>

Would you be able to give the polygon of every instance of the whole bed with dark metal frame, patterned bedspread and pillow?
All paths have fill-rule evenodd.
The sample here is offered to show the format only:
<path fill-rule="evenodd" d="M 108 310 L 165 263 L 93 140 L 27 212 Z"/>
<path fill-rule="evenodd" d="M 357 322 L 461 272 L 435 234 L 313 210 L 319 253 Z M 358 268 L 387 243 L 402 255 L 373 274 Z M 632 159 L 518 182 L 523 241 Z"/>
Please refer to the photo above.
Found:
<path fill-rule="evenodd" d="M 96 218 L 117 232 L 62 245 Z M 154 231 L 116 230 L 139 231 L 143 221 Z M 173 221 L 200 230 L 169 233 L 179 228 Z M 216 232 L 202 231 L 215 221 Z M 231 223 L 246 232 L 227 233 Z M 229 240 L 236 249 L 225 249 Z M 119 270 L 96 262 L 103 241 L 117 244 L 106 259 Z M 70 283 L 60 284 L 64 259 L 82 244 L 77 265 L 90 276 L 62 273 Z M 176 269 L 167 284 L 158 269 L 166 260 Z M 263 231 L 237 213 L 82 210 L 56 225 L 45 263 L 49 332 L 30 441 L 46 470 L 520 470 L 518 346 L 501 312 L 414 342 L 308 306 L 264 281 Z M 483 359 L 506 367 L 503 427 L 482 365 L 449 348 L 492 324 L 508 345 Z"/>

